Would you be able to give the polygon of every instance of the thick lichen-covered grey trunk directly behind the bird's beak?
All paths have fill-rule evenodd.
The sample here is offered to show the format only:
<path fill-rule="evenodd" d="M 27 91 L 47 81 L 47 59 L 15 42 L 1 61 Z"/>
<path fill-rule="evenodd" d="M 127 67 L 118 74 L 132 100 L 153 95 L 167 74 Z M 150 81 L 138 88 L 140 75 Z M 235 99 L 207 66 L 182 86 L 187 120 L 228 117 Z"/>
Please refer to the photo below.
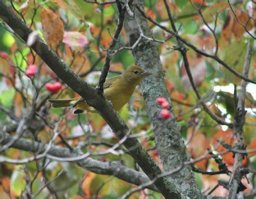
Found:
<path fill-rule="evenodd" d="M 144 10 L 144 1 L 138 2 L 140 8 Z M 129 38 L 130 46 L 134 45 L 141 32 L 143 35 L 151 37 L 151 31 L 147 20 L 135 9 L 135 17 L 125 15 L 124 28 Z M 170 103 L 172 118 L 168 121 L 159 120 L 161 107 L 157 104 L 157 97 L 164 97 L 170 102 L 170 95 L 164 82 L 164 73 L 159 58 L 157 45 L 146 38 L 141 38 L 136 47 L 132 49 L 132 54 L 136 65 L 152 72 L 153 76 L 144 79 L 140 84 L 143 91 L 143 98 L 146 102 L 150 123 L 154 129 L 156 139 L 156 148 L 163 163 L 164 172 L 175 170 L 183 163 L 189 161 L 189 155 L 186 154 L 186 147 L 180 136 L 180 128 L 173 119 L 173 106 Z M 174 173 L 168 180 L 174 182 L 175 186 L 189 198 L 202 198 L 198 189 L 191 166 L 184 166 L 182 170 Z"/>

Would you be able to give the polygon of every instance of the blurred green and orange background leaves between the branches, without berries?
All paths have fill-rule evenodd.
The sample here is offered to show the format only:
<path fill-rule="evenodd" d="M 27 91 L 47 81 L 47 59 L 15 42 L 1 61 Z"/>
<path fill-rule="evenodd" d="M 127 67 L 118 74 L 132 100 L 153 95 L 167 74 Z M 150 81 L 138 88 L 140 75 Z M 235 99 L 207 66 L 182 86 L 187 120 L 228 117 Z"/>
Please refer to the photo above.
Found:
<path fill-rule="evenodd" d="M 10 1 L 6 1 L 6 3 L 11 6 Z M 198 49 L 213 54 L 216 51 L 214 36 L 191 3 L 193 6 L 199 7 L 202 1 L 170 1 L 169 6 L 175 17 L 175 23 L 177 27 L 180 27 L 179 34 Z M 251 7 L 252 1 L 232 1 L 232 3 L 238 19 L 242 23 L 246 22 L 250 15 L 255 19 L 255 12 L 252 12 Z M 100 6 L 79 0 L 36 0 L 12 1 L 12 6 L 22 15 L 26 24 L 37 31 L 38 35 L 56 51 L 67 65 L 70 65 L 88 83 L 97 84 L 100 69 L 104 64 L 104 55 L 106 54 L 104 50 L 108 48 L 115 33 L 116 20 L 118 19 L 115 4 Z M 47 18 L 47 14 L 43 14 L 45 12 L 48 12 L 48 17 L 51 17 Z M 171 28 L 162 0 L 145 1 L 145 13 L 163 26 Z M 216 19 L 217 13 L 218 19 Z M 243 72 L 246 43 L 249 40 L 253 42 L 254 52 L 249 77 L 256 81 L 255 40 L 252 40 L 252 37 L 237 22 L 227 1 L 204 1 L 202 15 L 211 28 L 216 23 L 215 36 L 218 38 L 218 56 L 239 73 Z M 55 23 L 52 30 L 53 34 L 47 35 L 47 27 L 52 21 Z M 150 22 L 148 24 L 152 28 L 154 38 L 164 40 L 168 36 L 162 29 Z M 253 23 L 253 20 L 248 23 L 248 30 L 255 35 L 255 22 Z M 71 36 L 65 35 L 67 33 L 71 33 Z M 49 38 L 51 36 L 52 38 Z M 65 40 L 65 42 L 61 42 L 62 40 Z M 84 41 L 83 45 L 80 45 L 81 41 Z M 234 145 L 236 139 L 232 134 L 232 129 L 218 125 L 200 107 L 194 106 L 198 101 L 195 93 L 191 90 L 179 52 L 172 50 L 175 44 L 175 39 L 171 38 L 165 44 L 157 45 L 163 63 L 166 86 L 170 92 L 170 97 L 172 97 L 174 111 L 180 123 L 182 137 L 188 146 L 188 152 L 192 158 L 205 154 L 207 148 L 211 148 L 215 152 L 221 152 L 225 148 L 217 147 L 218 142 L 216 140 L 222 139 L 226 143 Z M 128 45 L 124 29 L 116 49 L 123 45 Z M 122 50 L 111 58 L 109 77 L 120 74 L 125 68 L 134 63 L 132 54 L 128 50 Z M 237 89 L 239 89 L 241 79 L 225 70 L 216 61 L 196 54 L 191 49 L 188 51 L 188 59 L 196 86 L 198 86 L 202 96 L 206 96 L 207 106 L 226 122 L 232 122 L 234 120 L 234 85 L 236 84 Z M 26 75 L 29 65 L 36 65 L 36 72 L 33 76 Z M 56 82 L 61 81 L 36 56 L 35 52 L 32 52 L 6 24 L 0 21 L 1 125 L 10 126 L 12 123 L 10 114 L 20 117 L 24 111 L 28 110 L 33 100 L 36 100 L 38 113 L 51 124 L 59 122 L 59 131 L 73 147 L 81 145 L 84 152 L 101 152 L 118 141 L 100 115 L 93 113 L 74 115 L 68 108 L 51 109 L 47 99 L 77 96 L 64 83 L 61 83 L 58 90 L 49 90 L 45 86 L 47 83 L 54 85 Z M 35 93 L 38 93 L 38 97 L 33 99 Z M 127 106 L 120 111 L 120 116 L 133 129 L 132 133 L 141 134 L 138 137 L 141 144 L 147 148 L 155 161 L 161 164 L 155 149 L 152 129 L 148 122 L 147 109 L 140 93 L 138 88 Z M 246 111 L 248 112 L 244 125 L 244 136 L 248 148 L 255 148 L 256 143 L 254 141 L 256 139 L 255 93 L 255 84 L 248 83 L 246 93 Z M 207 95 L 209 95 L 208 98 Z M 25 136 L 28 139 L 47 143 L 52 138 L 52 129 L 44 125 L 34 134 L 28 133 Z M 59 138 L 54 143 L 63 146 Z M 108 143 L 108 145 L 104 145 L 104 143 Z M 22 159 L 33 154 L 10 148 L 2 155 L 13 159 Z M 254 155 L 249 154 L 244 160 L 244 165 L 250 164 L 252 168 L 255 168 Z M 102 161 L 122 161 L 125 166 L 138 169 L 132 158 L 127 153 L 121 152 L 120 148 L 116 153 L 95 155 L 93 158 Z M 232 164 L 234 164 L 232 153 L 225 154 L 222 158 L 227 163 L 228 168 L 232 168 Z M 38 171 L 45 164 L 47 164 L 45 169 Z M 196 166 L 202 170 L 218 170 L 218 165 L 209 159 L 196 163 Z M 49 198 L 51 195 L 47 188 L 40 191 L 45 179 L 49 182 L 52 180 L 49 186 L 60 198 L 81 198 L 83 195 L 88 198 L 95 195 L 99 198 L 119 198 L 131 187 L 134 187 L 113 176 L 97 175 L 90 171 L 84 171 L 72 163 L 50 162 L 47 159 L 25 165 L 4 163 L 1 164 L 0 168 L 1 198 L 19 197 L 24 188 L 28 186 L 26 183 L 28 179 L 33 179 L 31 190 L 36 198 Z M 225 177 L 223 175 L 196 174 L 196 180 L 202 191 L 214 187 L 217 180 L 221 178 Z M 247 187 L 246 191 L 250 192 L 250 185 Z M 161 198 L 159 193 L 148 190 L 145 192 L 148 194 L 148 198 Z M 219 187 L 212 194 L 223 196 L 225 195 L 225 189 Z M 143 198 L 143 192 L 134 193 L 131 198 Z"/>

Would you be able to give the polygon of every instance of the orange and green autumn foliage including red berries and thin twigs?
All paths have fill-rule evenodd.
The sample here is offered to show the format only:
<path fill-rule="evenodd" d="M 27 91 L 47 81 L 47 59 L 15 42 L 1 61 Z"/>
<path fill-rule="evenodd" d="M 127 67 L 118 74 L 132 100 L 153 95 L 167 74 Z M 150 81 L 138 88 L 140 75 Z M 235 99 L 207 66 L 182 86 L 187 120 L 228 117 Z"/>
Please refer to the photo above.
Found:
<path fill-rule="evenodd" d="M 26 139 L 31 143 L 45 144 L 45 148 L 51 144 L 76 152 L 77 147 L 100 164 L 110 165 L 118 161 L 127 169 L 142 172 L 127 151 L 132 149 L 125 149 L 124 141 L 120 142 L 97 111 L 74 115 L 74 110 L 69 107 L 51 108 L 49 99 L 70 99 L 79 95 L 68 88 L 31 49 L 37 37 L 42 38 L 56 56 L 93 86 L 99 82 L 108 57 L 111 58 L 108 77 L 122 73 L 136 60 L 125 28 L 122 28 L 114 50 L 108 51 L 116 31 L 118 8 L 116 3 L 105 2 L 36 0 L 8 3 L 26 26 L 36 31 L 36 35 L 31 35 L 31 44 L 28 45 L 0 20 L 0 131 L 17 138 L 17 141 Z M 162 97 L 162 93 L 157 94 L 154 103 L 159 109 L 156 115 L 148 116 L 150 107 L 143 100 L 147 93 L 141 95 L 143 91 L 138 88 L 118 114 L 132 129 L 129 136 L 140 141 L 160 168 L 163 165 L 150 118 L 163 123 L 163 128 L 167 122 L 177 121 L 182 136 L 180 142 L 184 141 L 191 163 L 199 170 L 195 172 L 198 187 L 205 195 L 210 193 L 224 197 L 228 195 L 227 189 L 218 186 L 214 191 L 212 188 L 219 185 L 218 180 L 229 180 L 230 173 L 204 175 L 203 171 L 219 171 L 223 163 L 232 172 L 236 150 L 243 150 L 240 151 L 243 154 L 241 167 L 253 171 L 256 166 L 255 3 L 239 1 L 229 4 L 211 0 L 166 2 L 179 28 L 179 36 L 185 41 L 182 45 L 186 48 L 194 84 L 191 84 L 186 61 L 178 49 L 180 40 L 177 42 L 177 35 L 170 33 L 173 28 L 164 1 L 145 1 L 144 13 L 148 16 L 152 36 L 148 36 L 151 39 L 145 36 L 143 40 L 148 39 L 158 47 L 163 71 L 153 76 L 164 76 L 168 93 L 166 97 Z M 249 42 L 253 52 L 248 79 L 252 81 L 246 81 L 243 147 L 238 150 L 236 147 L 241 140 L 237 138 L 234 121 L 239 114 L 237 99 L 242 95 L 243 78 L 235 73 L 243 74 Z M 145 49 L 141 47 L 141 51 Z M 156 69 L 154 66 L 148 68 Z M 35 113 L 29 122 L 20 125 L 31 110 Z M 24 132 L 20 135 L 17 129 Z M 93 166 L 84 168 L 76 161 L 61 161 L 63 155 L 58 157 L 60 159 L 51 159 L 47 155 L 33 159 L 40 152 L 29 152 L 12 145 L 3 150 L 0 147 L 0 152 L 0 198 L 22 198 L 28 193 L 35 198 L 120 198 L 136 187 L 115 177 L 115 172 L 108 175 L 107 170 L 99 171 Z M 25 161 L 18 163 L 19 160 Z M 246 174 L 243 174 L 241 182 L 246 186 L 243 194 L 250 194 L 253 190 L 255 193 L 254 174 L 253 179 L 248 180 L 250 184 Z M 129 198 L 162 197 L 156 189 L 139 189 Z"/>

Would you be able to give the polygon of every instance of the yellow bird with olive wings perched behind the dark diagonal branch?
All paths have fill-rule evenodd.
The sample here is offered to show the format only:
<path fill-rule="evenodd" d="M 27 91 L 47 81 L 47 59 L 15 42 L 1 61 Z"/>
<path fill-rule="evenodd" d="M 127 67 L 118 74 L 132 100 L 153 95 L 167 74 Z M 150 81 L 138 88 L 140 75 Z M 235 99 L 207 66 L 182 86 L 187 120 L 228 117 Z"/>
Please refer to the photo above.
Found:
<path fill-rule="evenodd" d="M 127 68 L 120 76 L 111 77 L 106 79 L 103 89 L 104 95 L 111 102 L 113 108 L 120 110 L 130 99 L 136 86 L 140 81 L 151 73 L 143 70 L 142 68 L 132 65 Z M 83 113 L 84 110 L 92 111 L 92 107 L 86 104 L 85 100 L 81 97 L 73 99 L 56 99 L 49 100 L 52 107 L 76 107 L 75 114 Z"/>

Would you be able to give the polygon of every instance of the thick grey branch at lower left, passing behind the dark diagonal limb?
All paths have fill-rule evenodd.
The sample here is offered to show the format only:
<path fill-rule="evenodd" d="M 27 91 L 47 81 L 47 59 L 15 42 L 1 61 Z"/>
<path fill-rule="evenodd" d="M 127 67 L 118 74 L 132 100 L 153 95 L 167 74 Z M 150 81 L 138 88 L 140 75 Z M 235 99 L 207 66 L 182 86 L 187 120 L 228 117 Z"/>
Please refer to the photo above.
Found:
<path fill-rule="evenodd" d="M 0 132 L 1 145 L 5 145 L 6 143 L 10 143 L 11 141 L 13 141 L 12 136 L 4 132 Z M 33 154 L 35 153 L 42 154 L 44 153 L 45 148 L 47 148 L 47 145 L 38 143 L 36 141 L 30 141 L 28 139 L 19 139 L 19 140 L 15 140 L 15 142 L 12 143 L 11 147 L 18 148 L 20 150 L 26 150 Z M 49 148 L 49 151 L 47 152 L 47 154 L 52 156 L 57 156 L 57 157 L 77 157 L 77 155 L 82 155 L 81 152 L 77 154 L 76 151 L 71 152 L 67 148 L 61 148 L 54 145 L 52 145 L 51 148 Z M 15 161 L 13 159 L 8 159 L 6 157 L 1 157 L 1 156 L 0 156 L 0 163 L 26 164 L 26 162 L 24 161 L 19 161 L 19 160 Z M 141 185 L 150 181 L 147 175 L 145 175 L 144 173 L 141 173 L 139 171 L 134 171 L 130 168 L 127 168 L 126 166 L 123 166 L 118 162 L 108 163 L 108 162 L 97 161 L 95 159 L 88 157 L 86 159 L 79 160 L 74 163 L 80 166 L 81 168 L 92 171 L 94 173 L 99 173 L 103 175 L 115 175 L 115 177 L 117 177 L 118 179 L 124 180 L 131 184 Z M 154 191 L 158 191 L 156 186 L 149 186 L 148 188 Z"/>

